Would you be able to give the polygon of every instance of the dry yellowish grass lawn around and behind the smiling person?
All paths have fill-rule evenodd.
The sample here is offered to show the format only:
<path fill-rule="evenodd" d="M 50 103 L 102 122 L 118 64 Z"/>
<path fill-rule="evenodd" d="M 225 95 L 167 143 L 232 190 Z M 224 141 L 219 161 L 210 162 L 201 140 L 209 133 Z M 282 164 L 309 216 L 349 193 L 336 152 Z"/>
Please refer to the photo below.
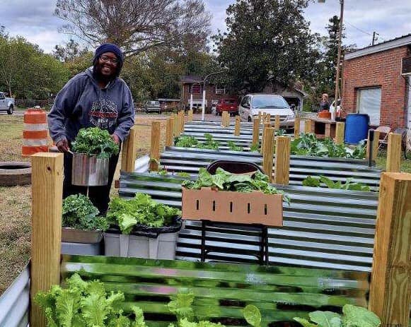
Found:
<path fill-rule="evenodd" d="M 161 121 L 162 140 L 166 121 L 160 116 L 137 117 L 137 156 L 149 153 L 151 121 Z M 23 116 L 0 114 L 0 161 L 28 161 L 21 156 Z M 163 146 L 164 142 L 161 143 Z M 121 160 L 121 159 L 120 159 Z M 117 165 L 117 177 L 120 174 Z M 118 194 L 112 187 L 111 195 Z M 30 258 L 31 186 L 0 187 L 0 295 L 23 270 Z"/>

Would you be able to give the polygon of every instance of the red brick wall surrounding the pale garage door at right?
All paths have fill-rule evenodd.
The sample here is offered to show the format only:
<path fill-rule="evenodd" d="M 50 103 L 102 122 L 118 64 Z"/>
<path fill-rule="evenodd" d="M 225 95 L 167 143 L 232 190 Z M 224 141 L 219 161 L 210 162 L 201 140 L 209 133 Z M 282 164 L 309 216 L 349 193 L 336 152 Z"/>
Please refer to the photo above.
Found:
<path fill-rule="evenodd" d="M 401 59 L 410 55 L 407 47 L 398 47 L 364 57 L 345 60 L 342 90 L 343 114 L 357 112 L 357 90 L 381 87 L 380 125 L 391 129 L 405 126 L 407 83 L 400 75 Z"/>

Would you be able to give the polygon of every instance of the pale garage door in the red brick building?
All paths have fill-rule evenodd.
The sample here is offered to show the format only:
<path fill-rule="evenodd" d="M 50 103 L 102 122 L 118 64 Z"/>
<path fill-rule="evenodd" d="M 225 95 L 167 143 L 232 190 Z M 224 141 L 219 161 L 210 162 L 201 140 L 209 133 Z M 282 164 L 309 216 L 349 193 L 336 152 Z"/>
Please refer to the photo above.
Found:
<path fill-rule="evenodd" d="M 370 124 L 380 126 L 381 88 L 363 88 L 357 91 L 357 112 L 368 114 Z"/>

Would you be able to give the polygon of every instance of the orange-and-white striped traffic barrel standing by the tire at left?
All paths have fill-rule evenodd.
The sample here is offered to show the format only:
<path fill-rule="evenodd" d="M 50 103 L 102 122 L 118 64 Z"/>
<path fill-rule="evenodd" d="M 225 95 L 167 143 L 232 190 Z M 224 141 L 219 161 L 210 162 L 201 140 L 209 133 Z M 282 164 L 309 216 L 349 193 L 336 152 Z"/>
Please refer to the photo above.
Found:
<path fill-rule="evenodd" d="M 37 152 L 49 152 L 47 114 L 42 109 L 30 108 L 24 112 L 23 157 Z"/>

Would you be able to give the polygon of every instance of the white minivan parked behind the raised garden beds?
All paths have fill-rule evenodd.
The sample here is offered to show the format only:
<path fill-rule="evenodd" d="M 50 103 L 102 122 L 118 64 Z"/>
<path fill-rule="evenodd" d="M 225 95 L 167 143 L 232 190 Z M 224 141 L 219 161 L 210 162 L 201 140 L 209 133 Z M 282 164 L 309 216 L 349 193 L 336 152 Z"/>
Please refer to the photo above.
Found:
<path fill-rule="evenodd" d="M 258 113 L 271 115 L 271 122 L 274 124 L 275 116 L 279 115 L 279 126 L 282 129 L 294 129 L 294 112 L 281 95 L 255 93 L 243 97 L 238 105 L 238 114 L 241 121 L 253 121 L 258 117 Z"/>

